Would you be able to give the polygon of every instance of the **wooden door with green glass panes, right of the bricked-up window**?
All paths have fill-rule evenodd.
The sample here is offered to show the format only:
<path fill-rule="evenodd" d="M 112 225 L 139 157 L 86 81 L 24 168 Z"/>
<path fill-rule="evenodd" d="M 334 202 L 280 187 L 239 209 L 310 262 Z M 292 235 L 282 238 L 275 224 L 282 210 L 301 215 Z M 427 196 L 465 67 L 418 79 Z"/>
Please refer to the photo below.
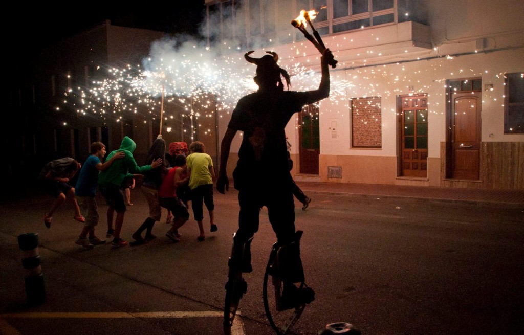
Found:
<path fill-rule="evenodd" d="M 400 97 L 400 171 L 406 177 L 427 177 L 428 96 Z"/>

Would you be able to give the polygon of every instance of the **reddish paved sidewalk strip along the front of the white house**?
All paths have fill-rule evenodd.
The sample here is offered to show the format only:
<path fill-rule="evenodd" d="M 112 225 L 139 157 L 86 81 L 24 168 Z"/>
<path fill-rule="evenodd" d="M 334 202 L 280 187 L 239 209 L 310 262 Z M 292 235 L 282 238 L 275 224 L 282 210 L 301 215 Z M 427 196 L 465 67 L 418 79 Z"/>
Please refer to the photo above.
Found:
<path fill-rule="evenodd" d="M 307 195 L 331 193 L 354 196 L 407 197 L 471 203 L 503 203 L 524 207 L 524 190 L 320 182 L 297 182 L 297 185 Z"/>

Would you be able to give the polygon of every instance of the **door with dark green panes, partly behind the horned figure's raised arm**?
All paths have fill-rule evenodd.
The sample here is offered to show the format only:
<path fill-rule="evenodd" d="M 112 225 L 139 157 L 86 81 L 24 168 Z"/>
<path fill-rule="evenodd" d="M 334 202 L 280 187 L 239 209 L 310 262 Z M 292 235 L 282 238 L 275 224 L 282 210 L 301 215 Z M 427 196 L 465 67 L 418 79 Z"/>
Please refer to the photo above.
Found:
<path fill-rule="evenodd" d="M 319 108 L 305 106 L 299 113 L 299 173 L 319 174 L 320 128 Z"/>

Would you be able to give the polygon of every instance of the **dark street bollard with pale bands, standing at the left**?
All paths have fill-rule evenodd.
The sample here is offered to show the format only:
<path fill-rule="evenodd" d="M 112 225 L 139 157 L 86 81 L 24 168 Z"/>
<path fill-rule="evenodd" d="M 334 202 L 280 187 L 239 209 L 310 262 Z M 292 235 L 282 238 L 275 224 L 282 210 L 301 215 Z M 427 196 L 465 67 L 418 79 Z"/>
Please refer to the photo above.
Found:
<path fill-rule="evenodd" d="M 22 266 L 26 269 L 25 285 L 27 304 L 40 305 L 46 301 L 46 287 L 43 282 L 41 259 L 38 254 L 38 234 L 26 233 L 18 236 L 22 250 Z"/>

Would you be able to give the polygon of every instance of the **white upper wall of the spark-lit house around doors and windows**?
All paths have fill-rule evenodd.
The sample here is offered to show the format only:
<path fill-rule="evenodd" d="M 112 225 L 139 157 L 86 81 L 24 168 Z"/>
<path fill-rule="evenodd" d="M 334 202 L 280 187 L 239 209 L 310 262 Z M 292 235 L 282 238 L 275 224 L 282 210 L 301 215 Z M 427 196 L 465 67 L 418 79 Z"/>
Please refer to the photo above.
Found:
<path fill-rule="evenodd" d="M 347 45 L 341 44 L 349 43 L 357 32 L 324 38 L 326 46 L 334 51 L 335 58 L 347 59 L 331 70 L 332 92 L 337 87 L 337 81 L 343 82 L 344 87 L 348 88 L 345 89 L 345 94 L 336 92 L 335 98 L 332 96 L 321 103 L 321 154 L 395 157 L 396 96 L 408 94 L 408 87 L 413 86 L 414 93 L 429 94 L 429 157 L 440 157 L 440 142 L 445 141 L 445 81 L 465 77 L 481 77 L 483 87 L 484 84 L 494 85 L 493 91 L 483 91 L 482 141 L 524 141 L 524 135 L 504 135 L 502 76 L 504 72 L 524 71 L 524 1 L 424 0 L 424 3 L 428 8 L 431 38 L 435 49 L 398 55 L 404 57 L 403 62 L 388 64 L 388 59 L 378 58 L 370 58 L 366 62 L 352 62 L 343 54 L 344 51 L 337 49 L 347 50 Z M 361 32 L 358 34 L 359 37 L 362 36 Z M 375 29 L 374 34 L 379 36 L 380 30 Z M 370 34 L 368 38 L 376 36 Z M 478 44 L 479 42 L 481 44 Z M 301 48 L 312 49 L 308 49 L 308 57 L 301 57 L 301 62 L 309 61 L 312 68 L 318 71 L 318 65 L 315 65 L 318 64 L 318 52 L 312 46 L 308 46 L 308 42 L 305 42 L 305 45 L 302 42 L 296 44 L 301 44 Z M 359 45 L 366 45 L 366 42 L 359 41 Z M 295 49 L 298 47 L 293 44 L 272 50 L 283 56 L 281 66 L 286 68 L 286 65 L 293 63 L 293 59 L 287 57 L 292 55 Z M 493 52 L 497 49 L 508 50 Z M 475 53 L 476 51 L 478 53 Z M 345 52 L 351 53 L 351 50 Z M 455 56 L 448 59 L 446 55 Z M 320 78 L 320 74 L 318 76 Z M 293 89 L 301 91 L 297 87 Z M 350 148 L 349 99 L 362 96 L 382 98 L 382 148 L 378 150 Z M 333 119 L 339 121 L 339 139 L 336 141 L 330 138 Z M 221 118 L 219 138 L 222 138 L 228 121 L 228 117 Z M 293 145 L 292 153 L 296 153 L 299 147 L 296 127 L 297 118 L 294 118 L 286 128 Z M 240 137 L 239 133 L 237 138 Z M 233 143 L 232 153 L 238 151 L 239 143 L 240 140 Z"/>

